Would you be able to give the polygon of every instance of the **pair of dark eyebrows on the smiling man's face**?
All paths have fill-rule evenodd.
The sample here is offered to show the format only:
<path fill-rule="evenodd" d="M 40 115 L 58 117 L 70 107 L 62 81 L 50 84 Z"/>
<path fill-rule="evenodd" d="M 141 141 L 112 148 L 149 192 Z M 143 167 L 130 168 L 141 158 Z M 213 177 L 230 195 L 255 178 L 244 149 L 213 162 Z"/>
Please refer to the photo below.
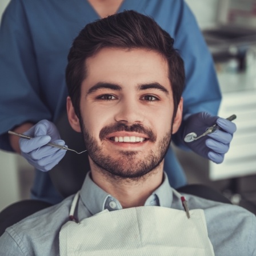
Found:
<path fill-rule="evenodd" d="M 91 93 L 95 93 L 95 91 L 100 89 L 111 89 L 115 91 L 121 91 L 122 87 L 114 83 L 98 82 L 87 91 L 86 96 Z M 157 90 L 163 91 L 163 93 L 165 93 L 166 95 L 169 95 L 169 91 L 164 86 L 160 85 L 157 82 L 141 84 L 138 86 L 138 90 L 148 90 L 148 89 L 157 89 Z"/>

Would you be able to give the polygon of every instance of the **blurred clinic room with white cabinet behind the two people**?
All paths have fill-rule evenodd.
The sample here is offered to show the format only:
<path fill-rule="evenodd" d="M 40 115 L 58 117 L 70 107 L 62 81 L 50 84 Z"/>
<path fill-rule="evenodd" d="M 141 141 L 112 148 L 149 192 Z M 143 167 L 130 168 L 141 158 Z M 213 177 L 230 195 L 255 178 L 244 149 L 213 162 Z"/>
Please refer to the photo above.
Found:
<path fill-rule="evenodd" d="M 186 2 L 213 54 L 223 97 L 219 116 L 236 114 L 238 130 L 221 165 L 175 151 L 189 183 L 214 187 L 256 214 L 256 1 Z M 8 3 L 0 1 L 0 17 Z M 0 211 L 29 198 L 33 178 L 33 167 L 22 157 L 0 150 Z"/>

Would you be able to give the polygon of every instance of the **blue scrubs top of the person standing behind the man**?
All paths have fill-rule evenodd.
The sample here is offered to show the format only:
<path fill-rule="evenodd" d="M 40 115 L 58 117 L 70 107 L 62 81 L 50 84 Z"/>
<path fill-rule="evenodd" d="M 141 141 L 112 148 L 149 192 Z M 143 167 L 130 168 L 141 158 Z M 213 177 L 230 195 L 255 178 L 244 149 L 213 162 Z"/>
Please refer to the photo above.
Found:
<path fill-rule="evenodd" d="M 174 38 L 186 71 L 183 114 L 217 114 L 221 93 L 213 60 L 183 0 L 124 0 L 119 11 L 150 15 Z M 65 68 L 73 39 L 99 16 L 86 0 L 12 0 L 0 29 L 0 147 L 12 151 L 7 131 L 24 122 L 56 121 L 65 111 Z M 172 172 L 171 170 L 176 170 Z M 180 171 L 177 171 L 179 169 Z M 171 186 L 185 185 L 170 148 L 165 170 Z M 57 203 L 48 173 L 36 171 L 32 197 Z"/>

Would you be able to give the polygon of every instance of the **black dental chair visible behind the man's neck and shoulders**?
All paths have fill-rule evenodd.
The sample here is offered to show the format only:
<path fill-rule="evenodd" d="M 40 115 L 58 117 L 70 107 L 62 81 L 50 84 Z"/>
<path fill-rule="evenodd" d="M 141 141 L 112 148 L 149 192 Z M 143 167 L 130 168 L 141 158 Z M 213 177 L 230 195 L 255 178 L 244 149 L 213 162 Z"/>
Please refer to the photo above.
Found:
<path fill-rule="evenodd" d="M 82 135 L 71 128 L 69 121 L 67 120 L 66 111 L 61 118 L 58 119 L 55 125 L 59 130 L 61 138 L 64 139 L 66 145 L 68 145 L 70 149 L 77 150 L 78 152 L 85 150 Z M 67 151 L 61 162 L 50 170 L 49 173 L 56 189 L 64 198 L 66 198 L 69 197 L 69 195 L 77 193 L 77 191 L 81 189 L 86 173 L 89 170 L 90 165 L 87 152 L 75 154 L 71 151 Z M 231 203 L 229 199 L 224 197 L 218 191 L 201 184 L 186 185 L 177 190 L 179 193 L 192 194 L 212 201 Z M 0 212 L 0 236 L 4 233 L 7 227 L 50 206 L 50 203 L 34 199 L 15 202 L 12 205 L 7 206 Z"/>

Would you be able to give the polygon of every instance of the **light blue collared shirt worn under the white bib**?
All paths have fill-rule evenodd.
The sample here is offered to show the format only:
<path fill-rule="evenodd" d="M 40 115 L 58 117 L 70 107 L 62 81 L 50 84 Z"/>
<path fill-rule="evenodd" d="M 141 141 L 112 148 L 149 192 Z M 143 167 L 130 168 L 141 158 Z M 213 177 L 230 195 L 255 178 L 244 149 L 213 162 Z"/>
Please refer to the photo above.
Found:
<path fill-rule="evenodd" d="M 98 187 L 89 174 L 80 195 L 75 212 L 75 217 L 80 220 L 104 209 L 122 209 L 118 200 Z M 215 256 L 256 255 L 254 214 L 239 206 L 209 201 L 188 194 L 185 196 L 190 209 L 204 210 Z M 0 237 L 0 255 L 59 255 L 59 231 L 62 225 L 69 221 L 73 198 L 74 196 L 71 196 L 58 205 L 39 211 L 6 229 Z M 145 206 L 150 205 L 183 210 L 181 199 L 173 193 L 166 174 L 162 185 L 147 198 Z"/>

